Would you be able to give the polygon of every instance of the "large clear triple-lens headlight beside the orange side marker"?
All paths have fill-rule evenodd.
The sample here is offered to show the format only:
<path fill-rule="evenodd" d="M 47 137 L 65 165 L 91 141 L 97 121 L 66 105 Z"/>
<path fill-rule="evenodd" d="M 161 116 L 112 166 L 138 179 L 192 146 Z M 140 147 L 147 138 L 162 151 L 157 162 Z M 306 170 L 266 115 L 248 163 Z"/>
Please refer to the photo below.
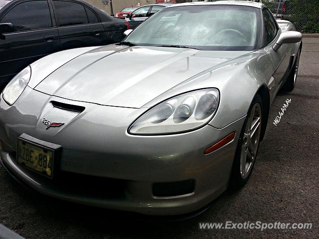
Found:
<path fill-rule="evenodd" d="M 132 134 L 169 134 L 203 126 L 217 111 L 219 92 L 204 89 L 182 94 L 152 108 L 129 128 Z"/>

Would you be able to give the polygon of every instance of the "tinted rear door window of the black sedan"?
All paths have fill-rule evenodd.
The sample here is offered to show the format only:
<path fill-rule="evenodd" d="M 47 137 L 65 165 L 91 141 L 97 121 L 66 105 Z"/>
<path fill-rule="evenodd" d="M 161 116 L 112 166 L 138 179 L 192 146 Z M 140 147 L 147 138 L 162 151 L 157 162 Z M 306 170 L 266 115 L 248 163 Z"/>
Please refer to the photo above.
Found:
<path fill-rule="evenodd" d="M 88 23 L 84 6 L 72 1 L 53 1 L 60 26 Z"/>

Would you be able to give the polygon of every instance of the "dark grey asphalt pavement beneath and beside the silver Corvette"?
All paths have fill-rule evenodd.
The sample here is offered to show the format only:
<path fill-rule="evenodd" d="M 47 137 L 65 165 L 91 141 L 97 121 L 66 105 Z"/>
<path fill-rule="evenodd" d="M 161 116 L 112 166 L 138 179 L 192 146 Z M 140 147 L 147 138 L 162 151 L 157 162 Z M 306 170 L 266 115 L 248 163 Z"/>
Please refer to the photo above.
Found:
<path fill-rule="evenodd" d="M 156 221 L 34 194 L 0 167 L 0 224 L 26 239 L 319 238 L 319 38 L 304 38 L 295 90 L 275 99 L 249 182 L 201 215 Z M 289 107 L 273 124 L 286 99 Z M 199 223 L 312 223 L 312 229 L 200 230 Z"/>

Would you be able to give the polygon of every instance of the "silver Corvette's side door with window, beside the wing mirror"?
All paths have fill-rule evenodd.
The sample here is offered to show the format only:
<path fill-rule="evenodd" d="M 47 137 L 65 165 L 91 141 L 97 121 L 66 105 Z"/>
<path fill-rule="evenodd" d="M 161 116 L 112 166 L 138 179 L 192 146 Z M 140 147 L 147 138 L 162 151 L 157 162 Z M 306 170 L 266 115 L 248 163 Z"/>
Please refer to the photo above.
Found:
<path fill-rule="evenodd" d="M 269 52 L 275 69 L 272 82 L 270 82 L 269 85 L 271 89 L 271 101 L 273 101 L 289 72 L 291 59 L 288 52 L 290 46 L 289 44 L 283 44 L 277 52 L 274 51 L 273 46 L 276 44 L 281 31 L 275 18 L 267 8 L 263 8 L 262 14 L 264 21 L 265 50 Z"/>

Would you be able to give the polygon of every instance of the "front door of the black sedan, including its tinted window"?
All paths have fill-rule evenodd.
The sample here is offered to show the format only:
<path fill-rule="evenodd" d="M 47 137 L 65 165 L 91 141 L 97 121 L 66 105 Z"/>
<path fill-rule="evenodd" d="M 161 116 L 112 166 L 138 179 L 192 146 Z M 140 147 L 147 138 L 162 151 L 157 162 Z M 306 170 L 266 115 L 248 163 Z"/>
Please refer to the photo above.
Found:
<path fill-rule="evenodd" d="M 37 59 L 59 50 L 60 41 L 52 7 L 47 0 L 17 1 L 1 15 L 13 32 L 0 39 L 0 89 Z"/>

